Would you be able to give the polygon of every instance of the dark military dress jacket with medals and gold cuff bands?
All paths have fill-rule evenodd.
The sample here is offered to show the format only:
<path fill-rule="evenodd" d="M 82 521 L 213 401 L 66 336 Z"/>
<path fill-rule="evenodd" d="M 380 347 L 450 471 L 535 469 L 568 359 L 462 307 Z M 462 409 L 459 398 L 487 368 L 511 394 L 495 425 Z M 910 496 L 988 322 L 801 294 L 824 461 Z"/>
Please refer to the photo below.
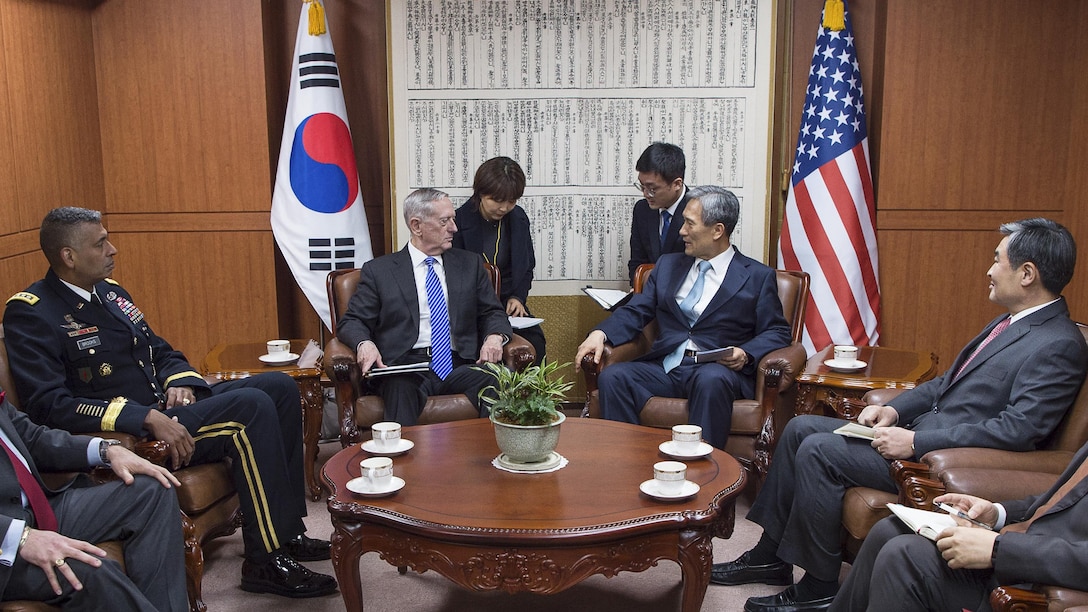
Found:
<path fill-rule="evenodd" d="M 124 287 L 106 280 L 95 291 L 100 306 L 49 270 L 8 301 L 3 322 L 12 377 L 35 421 L 139 436 L 168 387 L 191 387 L 198 399 L 211 394 L 185 355 L 151 330 Z"/>

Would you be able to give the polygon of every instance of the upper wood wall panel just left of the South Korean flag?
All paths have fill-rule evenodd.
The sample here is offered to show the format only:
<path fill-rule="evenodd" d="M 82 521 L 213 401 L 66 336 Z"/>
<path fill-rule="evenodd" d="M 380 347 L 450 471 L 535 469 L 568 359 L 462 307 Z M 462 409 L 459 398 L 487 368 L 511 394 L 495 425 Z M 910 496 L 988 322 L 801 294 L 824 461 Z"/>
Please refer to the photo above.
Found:
<path fill-rule="evenodd" d="M 94 27 L 109 210 L 269 210 L 260 0 L 110 0 Z"/>

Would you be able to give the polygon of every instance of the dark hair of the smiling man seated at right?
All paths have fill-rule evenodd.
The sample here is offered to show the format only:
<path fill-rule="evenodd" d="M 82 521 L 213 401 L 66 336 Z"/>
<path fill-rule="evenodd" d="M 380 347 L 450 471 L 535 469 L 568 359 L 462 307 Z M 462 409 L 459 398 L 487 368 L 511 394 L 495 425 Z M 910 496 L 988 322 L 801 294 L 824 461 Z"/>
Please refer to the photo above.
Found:
<path fill-rule="evenodd" d="M 1035 217 L 1003 223 L 1002 234 L 1009 236 L 1009 265 L 1018 268 L 1030 261 L 1039 269 L 1042 286 L 1054 295 L 1073 279 L 1077 264 L 1077 243 L 1073 234 L 1056 221 Z"/>

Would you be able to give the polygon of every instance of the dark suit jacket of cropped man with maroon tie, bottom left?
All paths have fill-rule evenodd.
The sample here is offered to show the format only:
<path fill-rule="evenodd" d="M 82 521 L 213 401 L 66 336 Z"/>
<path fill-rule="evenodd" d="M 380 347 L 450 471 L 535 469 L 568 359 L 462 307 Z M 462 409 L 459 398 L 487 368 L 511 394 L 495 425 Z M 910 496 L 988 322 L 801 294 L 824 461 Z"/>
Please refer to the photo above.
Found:
<path fill-rule="evenodd" d="M 38 473 L 39 468 L 47 472 L 72 472 L 90 467 L 87 464 L 87 445 L 91 440 L 89 437 L 72 436 L 67 431 L 35 425 L 8 401 L 0 405 L 0 429 L 3 429 L 8 439 L 29 464 L 30 473 L 38 479 L 47 495 L 59 491 L 46 487 Z M 8 458 L 8 453 L 0 451 L 0 535 L 7 533 L 12 518 L 23 519 L 26 516 L 21 493 L 11 460 Z M 0 564 L 0 595 L 7 589 L 10 577 L 11 566 Z"/>

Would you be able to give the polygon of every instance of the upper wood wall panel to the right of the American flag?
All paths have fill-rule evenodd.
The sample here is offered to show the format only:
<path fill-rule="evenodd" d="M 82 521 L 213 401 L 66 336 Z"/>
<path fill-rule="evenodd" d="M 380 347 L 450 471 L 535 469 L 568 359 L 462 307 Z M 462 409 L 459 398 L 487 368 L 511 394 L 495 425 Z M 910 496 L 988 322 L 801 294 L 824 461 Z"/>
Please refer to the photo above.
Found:
<path fill-rule="evenodd" d="M 1065 182 L 1078 4 L 888 4 L 880 208 L 1052 207 Z"/>

